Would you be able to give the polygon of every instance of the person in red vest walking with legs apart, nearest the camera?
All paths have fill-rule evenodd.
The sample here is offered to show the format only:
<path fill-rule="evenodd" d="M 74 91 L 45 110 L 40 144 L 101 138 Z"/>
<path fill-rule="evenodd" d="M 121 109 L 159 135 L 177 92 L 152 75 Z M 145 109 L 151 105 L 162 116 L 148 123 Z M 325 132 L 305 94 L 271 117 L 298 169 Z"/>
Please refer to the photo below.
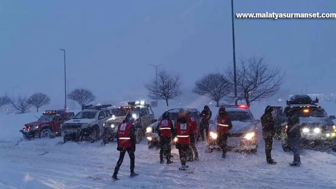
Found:
<path fill-rule="evenodd" d="M 134 127 L 134 118 L 132 117 L 131 113 L 128 113 L 125 120 L 118 125 L 118 147 L 117 150 L 120 151 L 119 159 L 116 165 L 116 168 L 114 169 L 114 173 L 112 176 L 113 180 L 120 180 L 117 175 L 118 171 L 120 169 L 121 164 L 123 163 L 125 153 L 127 151 L 129 158 L 131 160 L 131 175 L 130 177 L 133 178 L 135 176 L 138 176 L 139 174 L 134 173 L 134 162 L 135 162 L 135 144 L 136 144 L 136 138 L 135 138 L 135 127 Z"/>

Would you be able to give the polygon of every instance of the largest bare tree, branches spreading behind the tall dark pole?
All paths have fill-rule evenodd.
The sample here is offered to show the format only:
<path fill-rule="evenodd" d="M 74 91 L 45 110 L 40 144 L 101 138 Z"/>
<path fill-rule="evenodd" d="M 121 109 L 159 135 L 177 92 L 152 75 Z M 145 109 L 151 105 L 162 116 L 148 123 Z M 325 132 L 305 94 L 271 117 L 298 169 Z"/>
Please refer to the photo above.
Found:
<path fill-rule="evenodd" d="M 241 60 L 241 66 L 237 68 L 238 100 L 244 99 L 250 105 L 253 101 L 277 94 L 285 75 L 286 72 L 281 72 L 279 67 L 268 67 L 264 62 L 264 57 L 252 57 L 248 61 Z M 233 86 L 232 67 L 228 67 L 227 77 Z"/>

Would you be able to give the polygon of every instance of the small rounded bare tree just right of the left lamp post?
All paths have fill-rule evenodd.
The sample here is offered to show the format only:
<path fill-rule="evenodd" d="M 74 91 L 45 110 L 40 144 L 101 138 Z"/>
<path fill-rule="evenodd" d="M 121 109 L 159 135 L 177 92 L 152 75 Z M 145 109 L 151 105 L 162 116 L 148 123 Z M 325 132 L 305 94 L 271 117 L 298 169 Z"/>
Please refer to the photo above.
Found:
<path fill-rule="evenodd" d="M 70 100 L 78 102 L 79 105 L 85 106 L 94 101 L 96 96 L 88 89 L 74 89 L 68 94 Z"/>

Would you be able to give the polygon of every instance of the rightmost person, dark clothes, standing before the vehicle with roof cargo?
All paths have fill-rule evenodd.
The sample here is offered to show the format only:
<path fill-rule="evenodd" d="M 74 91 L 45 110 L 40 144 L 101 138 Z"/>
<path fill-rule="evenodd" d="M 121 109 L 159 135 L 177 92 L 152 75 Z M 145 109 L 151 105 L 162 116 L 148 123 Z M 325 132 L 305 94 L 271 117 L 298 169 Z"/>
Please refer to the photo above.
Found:
<path fill-rule="evenodd" d="M 288 111 L 288 128 L 287 128 L 287 136 L 291 143 L 291 148 L 294 154 L 294 161 L 289 163 L 290 166 L 300 166 L 300 141 L 301 141 L 301 129 L 300 129 L 300 119 L 298 110 L 290 109 Z"/>

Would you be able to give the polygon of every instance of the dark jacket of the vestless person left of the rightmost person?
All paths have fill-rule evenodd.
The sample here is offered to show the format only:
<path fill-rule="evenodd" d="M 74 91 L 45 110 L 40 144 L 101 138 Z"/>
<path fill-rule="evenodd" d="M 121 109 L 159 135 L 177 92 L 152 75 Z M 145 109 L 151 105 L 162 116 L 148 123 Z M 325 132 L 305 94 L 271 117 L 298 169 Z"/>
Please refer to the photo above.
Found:
<path fill-rule="evenodd" d="M 265 109 L 265 113 L 261 116 L 261 128 L 262 128 L 262 137 L 272 138 L 275 136 L 275 127 L 274 120 L 272 116 L 273 109 L 270 106 L 267 106 Z"/>

